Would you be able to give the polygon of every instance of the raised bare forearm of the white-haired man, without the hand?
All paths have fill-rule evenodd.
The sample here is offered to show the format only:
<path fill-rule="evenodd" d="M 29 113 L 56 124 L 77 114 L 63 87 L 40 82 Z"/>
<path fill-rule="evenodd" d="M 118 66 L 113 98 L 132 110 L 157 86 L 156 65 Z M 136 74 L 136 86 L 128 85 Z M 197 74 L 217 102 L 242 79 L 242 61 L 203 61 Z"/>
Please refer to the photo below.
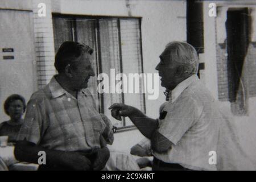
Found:
<path fill-rule="evenodd" d="M 157 119 L 148 118 L 138 109 L 135 109 L 133 114 L 129 115 L 129 118 L 139 129 L 139 131 L 141 131 L 141 133 L 149 139 L 151 139 L 152 134 L 158 128 Z"/>

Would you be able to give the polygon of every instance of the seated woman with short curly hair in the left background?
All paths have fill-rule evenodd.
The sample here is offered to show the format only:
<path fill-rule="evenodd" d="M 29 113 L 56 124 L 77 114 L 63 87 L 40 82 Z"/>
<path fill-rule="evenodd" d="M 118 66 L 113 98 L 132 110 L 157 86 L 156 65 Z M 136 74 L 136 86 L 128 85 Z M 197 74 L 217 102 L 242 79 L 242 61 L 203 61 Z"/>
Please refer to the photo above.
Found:
<path fill-rule="evenodd" d="M 20 126 L 23 123 L 22 115 L 26 110 L 26 101 L 24 97 L 13 94 L 6 99 L 3 107 L 10 120 L 0 123 L 0 136 L 8 136 L 8 142 L 16 142 Z"/>

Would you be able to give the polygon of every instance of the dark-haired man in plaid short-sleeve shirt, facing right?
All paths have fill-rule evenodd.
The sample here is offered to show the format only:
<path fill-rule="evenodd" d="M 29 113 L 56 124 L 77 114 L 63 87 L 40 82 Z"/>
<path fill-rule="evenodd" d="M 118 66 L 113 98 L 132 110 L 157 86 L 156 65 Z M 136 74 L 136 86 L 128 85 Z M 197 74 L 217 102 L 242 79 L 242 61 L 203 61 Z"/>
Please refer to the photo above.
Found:
<path fill-rule="evenodd" d="M 39 169 L 100 170 L 105 167 L 112 144 L 112 125 L 98 113 L 88 80 L 93 49 L 64 42 L 55 56 L 58 75 L 45 88 L 32 94 L 14 154 L 20 161 L 38 163 L 46 152 L 46 165 Z"/>

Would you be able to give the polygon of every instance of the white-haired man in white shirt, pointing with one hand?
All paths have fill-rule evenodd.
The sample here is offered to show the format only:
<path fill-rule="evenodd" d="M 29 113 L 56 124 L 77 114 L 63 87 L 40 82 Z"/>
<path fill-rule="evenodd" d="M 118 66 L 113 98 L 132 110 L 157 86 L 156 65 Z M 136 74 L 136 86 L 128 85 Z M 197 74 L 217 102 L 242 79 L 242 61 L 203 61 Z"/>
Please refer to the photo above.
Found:
<path fill-rule="evenodd" d="M 113 104 L 112 116 L 129 117 L 150 139 L 153 170 L 216 170 L 209 152 L 217 151 L 222 115 L 214 98 L 197 77 L 199 58 L 185 42 L 171 42 L 156 66 L 167 89 L 160 117 L 151 119 L 132 106 Z"/>

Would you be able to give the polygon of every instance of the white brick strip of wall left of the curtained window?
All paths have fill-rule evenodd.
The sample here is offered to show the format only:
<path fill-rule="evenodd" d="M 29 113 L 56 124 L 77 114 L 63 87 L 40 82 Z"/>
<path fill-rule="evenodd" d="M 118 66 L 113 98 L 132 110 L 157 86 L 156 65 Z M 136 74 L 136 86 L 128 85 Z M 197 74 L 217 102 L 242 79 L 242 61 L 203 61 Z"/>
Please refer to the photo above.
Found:
<path fill-rule="evenodd" d="M 36 71 L 38 73 L 38 88 L 42 88 L 44 85 L 48 84 L 51 77 L 56 73 L 53 65 L 55 51 L 51 1 L 34 0 L 32 2 L 36 50 Z M 43 6 L 39 6 L 40 3 L 43 3 L 43 5 L 46 7 L 45 16 L 40 15 L 40 13 L 42 13 L 40 9 L 43 8 Z"/>

